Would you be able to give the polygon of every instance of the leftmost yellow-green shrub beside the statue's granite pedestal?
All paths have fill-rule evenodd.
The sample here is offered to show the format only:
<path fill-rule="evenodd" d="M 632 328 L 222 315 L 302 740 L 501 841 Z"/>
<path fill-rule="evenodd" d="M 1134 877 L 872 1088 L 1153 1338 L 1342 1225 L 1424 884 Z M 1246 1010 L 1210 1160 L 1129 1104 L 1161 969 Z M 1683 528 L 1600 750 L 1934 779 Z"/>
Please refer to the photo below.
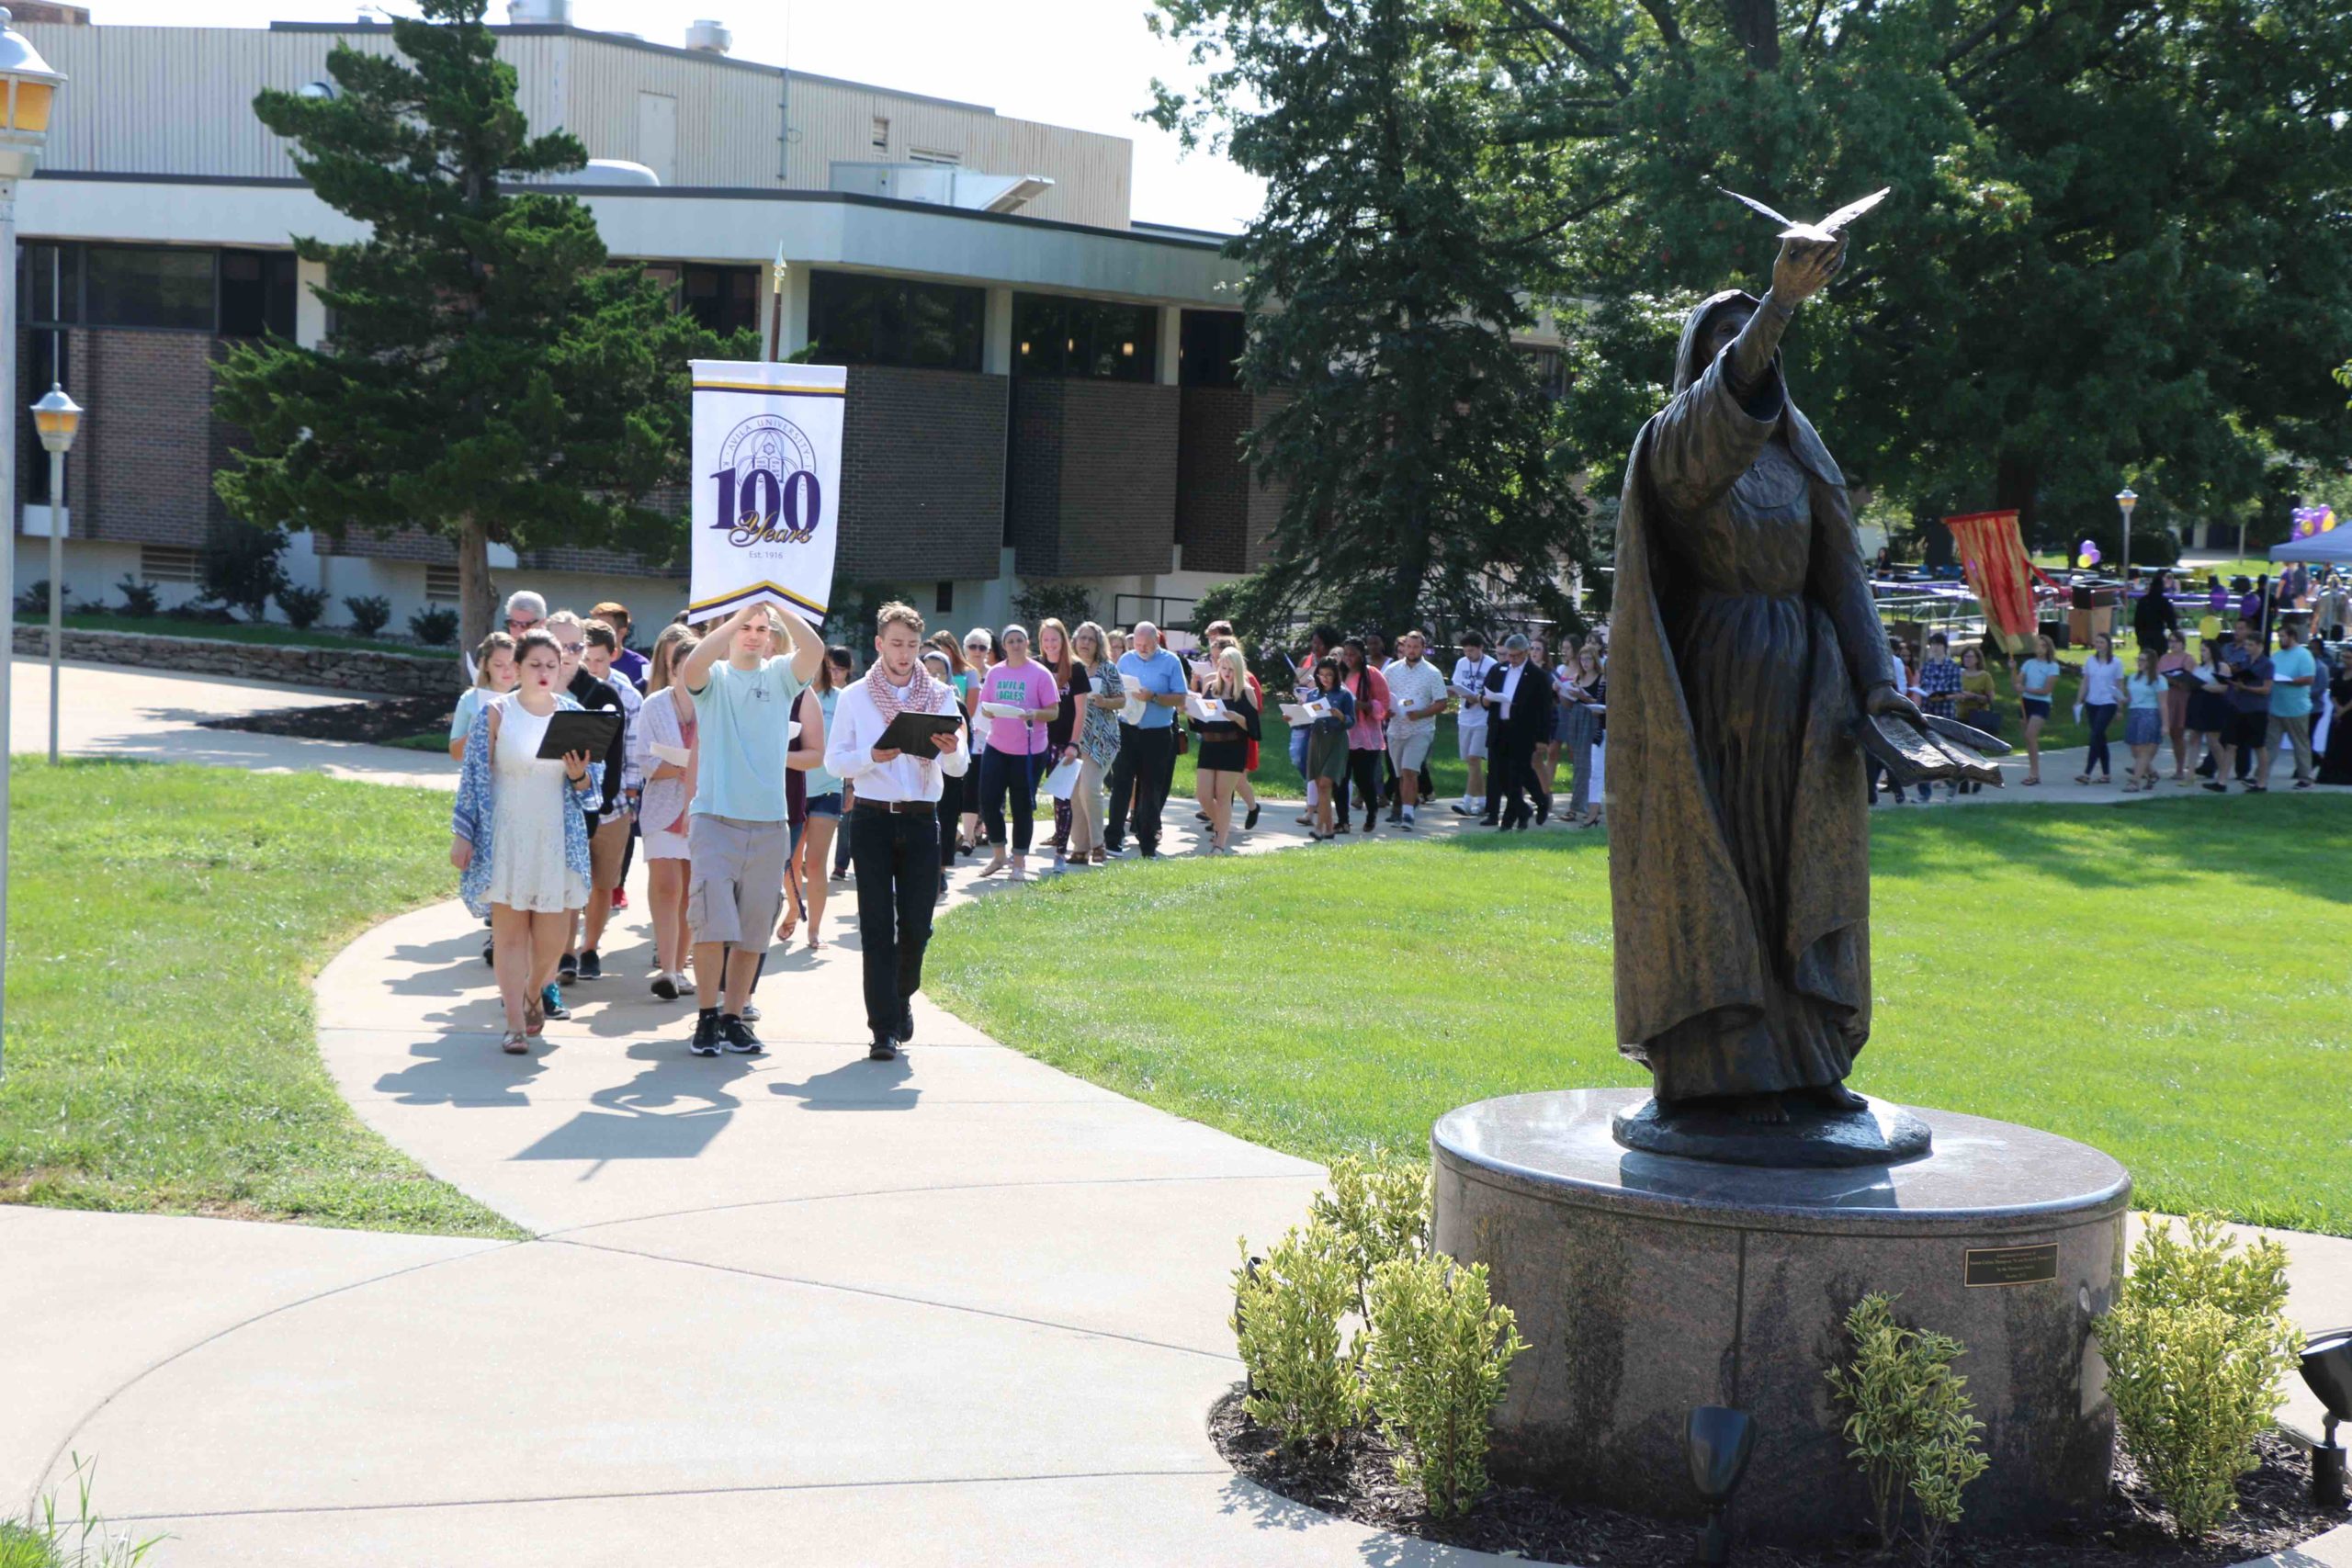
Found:
<path fill-rule="evenodd" d="M 1251 1265 L 1232 1272 L 1232 1335 L 1249 1394 L 1242 1408 L 1294 1446 L 1336 1443 L 1362 1401 L 1355 1356 L 1341 1349 L 1352 1274 L 1338 1232 L 1294 1225 Z"/>

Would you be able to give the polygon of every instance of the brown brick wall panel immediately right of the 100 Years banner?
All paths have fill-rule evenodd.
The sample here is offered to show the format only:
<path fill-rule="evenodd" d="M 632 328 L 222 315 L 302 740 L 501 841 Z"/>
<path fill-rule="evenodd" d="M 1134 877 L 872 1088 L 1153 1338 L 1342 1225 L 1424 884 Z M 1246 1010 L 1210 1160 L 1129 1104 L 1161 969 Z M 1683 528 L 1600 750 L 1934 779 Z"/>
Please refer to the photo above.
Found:
<path fill-rule="evenodd" d="M 837 583 L 997 576 L 1007 390 L 1004 376 L 851 367 Z"/>

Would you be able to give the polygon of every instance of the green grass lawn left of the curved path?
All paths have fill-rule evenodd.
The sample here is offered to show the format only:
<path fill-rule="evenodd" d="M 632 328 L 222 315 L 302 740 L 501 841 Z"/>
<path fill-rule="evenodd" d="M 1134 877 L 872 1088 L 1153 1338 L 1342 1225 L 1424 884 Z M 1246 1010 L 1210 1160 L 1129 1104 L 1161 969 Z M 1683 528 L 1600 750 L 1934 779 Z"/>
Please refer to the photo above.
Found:
<path fill-rule="evenodd" d="M 510 1237 L 367 1131 L 310 978 L 435 898 L 449 797 L 14 762 L 0 1201 Z"/>

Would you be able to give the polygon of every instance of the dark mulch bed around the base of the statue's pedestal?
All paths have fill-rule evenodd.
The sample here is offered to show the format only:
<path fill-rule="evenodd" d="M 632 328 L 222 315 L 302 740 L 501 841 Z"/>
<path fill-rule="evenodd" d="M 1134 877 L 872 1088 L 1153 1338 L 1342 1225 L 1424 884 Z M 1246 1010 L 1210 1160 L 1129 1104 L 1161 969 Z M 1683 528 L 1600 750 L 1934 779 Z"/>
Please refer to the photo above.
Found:
<path fill-rule="evenodd" d="M 1352 1434 L 1331 1453 L 1287 1453 L 1275 1432 L 1242 1410 L 1240 1385 L 1211 1406 L 1209 1436 L 1235 1472 L 1270 1493 L 1449 1547 L 1581 1568 L 1684 1568 L 1698 1547 L 1696 1523 L 1562 1502 L 1526 1486 L 1496 1486 L 1465 1519 L 1430 1519 L 1421 1507 L 1421 1493 L 1397 1483 L 1390 1469 L 1395 1453 L 1376 1432 Z M 1943 1561 L 1952 1568 L 2225 1568 L 2352 1523 L 2352 1514 L 2343 1509 L 2312 1507 L 2312 1467 L 2303 1448 L 2270 1432 L 2258 1450 L 2263 1465 L 2237 1486 L 2239 1512 L 2197 1547 L 2183 1547 L 2166 1533 L 2164 1512 L 2140 1486 L 2131 1460 L 2117 1450 L 2117 1474 L 2103 1516 L 2044 1535 L 1987 1537 L 1971 1537 L 1962 1519 L 1947 1537 Z M 1851 1544 L 1806 1554 L 1743 1544 L 1733 1559 L 1750 1568 L 1842 1568 L 1912 1563 L 1917 1549 L 1898 1542 L 1893 1554 L 1882 1556 L 1877 1535 L 1870 1533 Z"/>

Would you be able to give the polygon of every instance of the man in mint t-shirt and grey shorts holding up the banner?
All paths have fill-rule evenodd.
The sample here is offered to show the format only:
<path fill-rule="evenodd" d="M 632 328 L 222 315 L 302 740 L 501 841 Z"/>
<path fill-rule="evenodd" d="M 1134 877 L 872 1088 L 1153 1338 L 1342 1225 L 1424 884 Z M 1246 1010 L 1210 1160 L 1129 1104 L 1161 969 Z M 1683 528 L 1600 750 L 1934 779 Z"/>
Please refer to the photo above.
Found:
<path fill-rule="evenodd" d="M 783 654 L 774 651 L 779 637 Z M 736 1056 L 764 1051 L 743 1023 L 743 1004 L 783 905 L 793 851 L 783 804 L 793 705 L 823 656 L 816 630 L 790 609 L 746 604 L 677 668 L 677 684 L 694 698 L 687 924 L 703 987 L 694 1056 L 717 1056 L 722 1046 Z"/>

